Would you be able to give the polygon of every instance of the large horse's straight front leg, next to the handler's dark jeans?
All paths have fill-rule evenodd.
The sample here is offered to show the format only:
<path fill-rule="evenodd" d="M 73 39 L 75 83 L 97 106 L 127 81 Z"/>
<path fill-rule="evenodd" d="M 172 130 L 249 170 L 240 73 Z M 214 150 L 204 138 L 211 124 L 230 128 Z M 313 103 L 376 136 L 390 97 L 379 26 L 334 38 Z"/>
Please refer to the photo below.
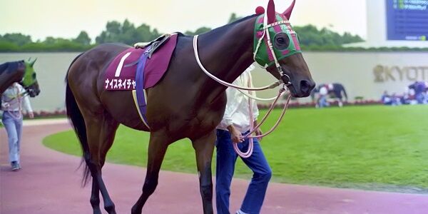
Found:
<path fill-rule="evenodd" d="M 192 139 L 198 165 L 200 196 L 202 197 L 203 213 L 213 213 L 213 180 L 211 177 L 211 161 L 213 159 L 215 132 L 211 131 L 202 138 Z"/>

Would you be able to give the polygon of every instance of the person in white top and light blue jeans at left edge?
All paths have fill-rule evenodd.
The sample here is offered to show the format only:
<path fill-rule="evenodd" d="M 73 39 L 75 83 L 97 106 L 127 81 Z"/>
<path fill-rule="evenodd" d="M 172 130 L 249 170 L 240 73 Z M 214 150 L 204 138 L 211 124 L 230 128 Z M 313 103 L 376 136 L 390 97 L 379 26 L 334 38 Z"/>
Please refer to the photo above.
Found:
<path fill-rule="evenodd" d="M 12 170 L 21 169 L 19 151 L 22 134 L 22 107 L 24 106 L 30 118 L 34 118 L 29 97 L 24 95 L 25 92 L 19 83 L 13 83 L 1 94 L 1 110 L 3 111 L 1 121 L 6 128 L 9 140 L 9 161 Z"/>

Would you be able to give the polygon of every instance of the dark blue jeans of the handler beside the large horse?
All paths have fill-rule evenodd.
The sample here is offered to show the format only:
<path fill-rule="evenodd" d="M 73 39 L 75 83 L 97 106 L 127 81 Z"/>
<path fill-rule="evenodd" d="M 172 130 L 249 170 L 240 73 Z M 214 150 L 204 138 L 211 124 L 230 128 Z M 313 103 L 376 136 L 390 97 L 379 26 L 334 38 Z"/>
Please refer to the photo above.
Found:
<path fill-rule="evenodd" d="M 244 133 L 243 133 L 244 134 Z M 249 158 L 242 158 L 244 163 L 253 170 L 247 193 L 240 210 L 244 213 L 260 213 L 260 209 L 265 199 L 267 183 L 272 176 L 272 170 L 266 161 L 262 148 L 257 139 L 254 138 L 253 155 Z M 241 151 L 248 150 L 248 139 L 243 143 L 238 143 Z M 228 131 L 217 130 L 217 167 L 215 175 L 215 197 L 217 202 L 217 213 L 229 213 L 230 183 L 235 171 L 235 163 L 238 155 L 233 150 L 232 139 Z"/>

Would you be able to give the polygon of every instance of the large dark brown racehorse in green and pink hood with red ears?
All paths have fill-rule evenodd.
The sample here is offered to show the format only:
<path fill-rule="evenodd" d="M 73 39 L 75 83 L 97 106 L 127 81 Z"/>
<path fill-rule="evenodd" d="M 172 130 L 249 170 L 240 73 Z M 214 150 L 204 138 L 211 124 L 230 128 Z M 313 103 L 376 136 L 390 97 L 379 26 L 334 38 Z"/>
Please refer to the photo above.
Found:
<path fill-rule="evenodd" d="M 189 138 L 195 149 L 203 213 L 213 213 L 211 160 L 215 127 L 225 111 L 226 87 L 203 73 L 195 60 L 193 39 L 199 38 L 196 51 L 201 63 L 228 83 L 238 78 L 254 60 L 266 61 L 263 64 L 266 70 L 286 83 L 292 96 L 309 96 L 315 83 L 302 57 L 297 35 L 287 21 L 294 4 L 293 1 L 284 13 L 278 14 L 270 0 L 266 13 L 258 8 L 256 14 L 195 38 L 179 34 L 168 70 L 156 86 L 147 90 L 146 118 L 150 128 L 141 121 L 132 93 L 104 89 L 103 76 L 108 63 L 130 46 L 101 44 L 73 60 L 66 76 L 66 109 L 83 149 L 86 163 L 83 181 L 88 181 L 89 174 L 93 178 L 90 199 L 93 213 L 101 213 L 99 192 L 105 210 L 116 213 L 101 168 L 119 124 L 150 131 L 146 179 L 131 213 L 142 212 L 158 185 L 158 173 L 168 145 L 182 138 Z"/>

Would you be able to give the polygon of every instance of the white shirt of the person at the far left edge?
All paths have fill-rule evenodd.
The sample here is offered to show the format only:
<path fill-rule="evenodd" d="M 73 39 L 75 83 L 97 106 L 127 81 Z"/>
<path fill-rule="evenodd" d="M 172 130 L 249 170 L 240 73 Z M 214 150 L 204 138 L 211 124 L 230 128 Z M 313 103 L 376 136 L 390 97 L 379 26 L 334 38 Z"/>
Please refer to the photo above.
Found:
<path fill-rule="evenodd" d="M 23 96 L 25 92 L 25 89 L 19 85 L 19 83 L 14 83 L 12 86 L 7 88 L 6 91 L 1 94 L 1 110 L 20 111 L 21 106 L 19 106 L 19 104 L 21 103 L 27 112 L 33 111 L 30 105 L 29 96 Z"/>

